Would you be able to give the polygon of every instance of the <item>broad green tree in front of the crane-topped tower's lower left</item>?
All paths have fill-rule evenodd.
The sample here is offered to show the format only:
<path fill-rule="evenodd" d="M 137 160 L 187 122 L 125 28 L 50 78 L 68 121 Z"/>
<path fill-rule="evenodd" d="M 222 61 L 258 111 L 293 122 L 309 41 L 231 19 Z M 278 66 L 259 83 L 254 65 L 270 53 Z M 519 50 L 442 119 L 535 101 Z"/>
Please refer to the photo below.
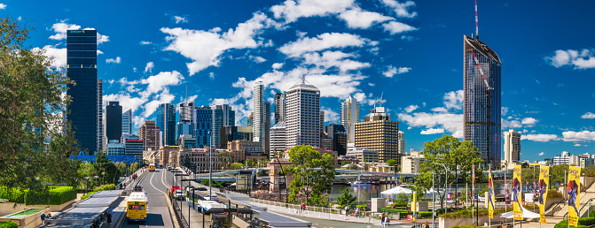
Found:
<path fill-rule="evenodd" d="M 419 176 L 416 178 L 416 185 L 413 187 L 418 193 L 425 193 L 432 186 L 432 171 L 435 173 L 435 184 L 438 187 L 436 192 L 442 202 L 446 192 L 444 189 L 447 186 L 456 184 L 459 178 L 466 179 L 472 171 L 473 164 L 476 169 L 482 162 L 479 157 L 477 148 L 474 147 L 471 141 L 459 141 L 451 135 L 442 135 L 442 138 L 435 141 L 427 141 L 424 143 L 425 162 L 419 165 Z M 448 169 L 448 179 L 446 179 L 446 171 L 444 166 Z M 476 170 L 475 174 L 481 171 Z M 455 195 L 458 189 L 455 185 Z"/>

